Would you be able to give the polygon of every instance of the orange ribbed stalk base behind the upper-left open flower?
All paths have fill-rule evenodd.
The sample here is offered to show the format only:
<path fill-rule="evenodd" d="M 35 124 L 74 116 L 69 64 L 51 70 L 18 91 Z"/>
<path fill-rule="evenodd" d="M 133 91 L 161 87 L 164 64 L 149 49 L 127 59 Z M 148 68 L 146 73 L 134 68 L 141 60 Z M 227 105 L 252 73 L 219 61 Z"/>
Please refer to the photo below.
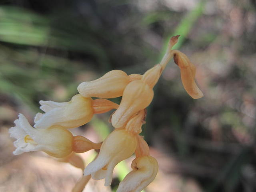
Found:
<path fill-rule="evenodd" d="M 92 108 L 94 114 L 105 113 L 112 109 L 117 109 L 118 106 L 118 104 L 107 99 L 95 99 L 92 101 Z"/>

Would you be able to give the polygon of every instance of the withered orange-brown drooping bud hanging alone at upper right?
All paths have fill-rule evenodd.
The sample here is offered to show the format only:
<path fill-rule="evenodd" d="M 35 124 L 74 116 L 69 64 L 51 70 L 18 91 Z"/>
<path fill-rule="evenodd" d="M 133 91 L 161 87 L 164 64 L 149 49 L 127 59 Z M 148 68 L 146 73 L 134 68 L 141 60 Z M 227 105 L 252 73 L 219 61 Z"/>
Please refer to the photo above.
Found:
<path fill-rule="evenodd" d="M 194 99 L 201 98 L 204 96 L 204 94 L 201 92 L 195 82 L 196 67 L 190 62 L 184 53 L 178 50 L 173 50 L 173 52 L 174 62 L 180 68 L 181 80 L 186 92 Z"/>

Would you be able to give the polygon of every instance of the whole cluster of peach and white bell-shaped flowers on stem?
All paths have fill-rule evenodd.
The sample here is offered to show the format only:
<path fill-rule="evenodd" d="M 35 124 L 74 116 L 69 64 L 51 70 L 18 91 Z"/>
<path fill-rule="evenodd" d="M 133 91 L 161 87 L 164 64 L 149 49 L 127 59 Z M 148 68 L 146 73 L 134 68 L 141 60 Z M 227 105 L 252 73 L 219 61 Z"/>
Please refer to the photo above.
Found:
<path fill-rule="evenodd" d="M 201 98 L 202 92 L 196 86 L 195 67 L 185 54 L 172 50 L 178 36 L 170 39 L 167 52 L 160 62 L 143 75 L 127 75 L 121 70 L 112 70 L 101 78 L 82 82 L 79 94 L 69 102 L 40 101 L 44 113 L 36 114 L 34 127 L 22 115 L 10 128 L 11 137 L 16 138 L 15 155 L 29 151 L 44 151 L 50 156 L 73 162 L 84 168 L 74 153 L 100 149 L 98 156 L 84 169 L 84 177 L 105 179 L 105 186 L 112 182 L 114 167 L 135 153 L 132 171 L 120 182 L 117 192 L 140 192 L 154 180 L 158 162 L 150 156 L 146 141 L 139 134 L 146 119 L 146 108 L 152 102 L 153 87 L 158 82 L 166 64 L 173 57 L 179 66 L 182 84 L 192 98 Z M 122 96 L 120 104 L 107 100 Z M 91 97 L 99 99 L 93 100 Z M 89 122 L 94 114 L 116 109 L 110 118 L 114 131 L 102 142 L 96 144 L 83 136 L 73 136 L 68 130 Z M 76 160 L 74 160 L 76 159 Z M 86 182 L 88 178 L 84 179 Z M 80 189 L 81 190 L 81 189 Z"/>

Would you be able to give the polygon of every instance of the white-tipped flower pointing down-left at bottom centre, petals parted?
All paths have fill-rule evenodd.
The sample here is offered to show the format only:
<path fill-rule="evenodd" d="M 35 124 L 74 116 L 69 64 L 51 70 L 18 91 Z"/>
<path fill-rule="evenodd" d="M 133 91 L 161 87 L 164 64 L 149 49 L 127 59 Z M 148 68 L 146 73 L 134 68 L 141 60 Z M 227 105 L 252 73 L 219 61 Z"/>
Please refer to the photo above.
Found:
<path fill-rule="evenodd" d="M 125 129 L 114 130 L 102 143 L 98 157 L 85 168 L 84 176 L 91 174 L 95 180 L 105 178 L 105 186 L 109 186 L 114 167 L 130 157 L 136 145 L 136 137 Z"/>

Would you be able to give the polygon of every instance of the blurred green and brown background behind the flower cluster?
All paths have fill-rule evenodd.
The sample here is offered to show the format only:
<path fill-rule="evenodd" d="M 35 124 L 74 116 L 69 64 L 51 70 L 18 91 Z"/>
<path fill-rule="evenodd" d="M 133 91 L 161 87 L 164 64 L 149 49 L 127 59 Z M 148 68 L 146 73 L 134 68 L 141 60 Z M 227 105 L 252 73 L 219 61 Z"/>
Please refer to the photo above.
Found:
<path fill-rule="evenodd" d="M 159 163 L 144 191 L 256 191 L 255 34 L 255 0 L 2 0 L 0 192 L 70 191 L 81 170 L 42 152 L 14 156 L 8 129 L 19 113 L 33 125 L 39 100 L 66 102 L 80 82 L 113 69 L 143 74 L 173 35 L 204 97 L 188 96 L 171 61 L 143 127 Z M 112 112 L 71 131 L 100 142 Z M 93 155 L 82 154 L 87 163 Z M 84 191 L 114 192 L 133 158 L 116 167 L 110 187 L 92 180 Z"/>

